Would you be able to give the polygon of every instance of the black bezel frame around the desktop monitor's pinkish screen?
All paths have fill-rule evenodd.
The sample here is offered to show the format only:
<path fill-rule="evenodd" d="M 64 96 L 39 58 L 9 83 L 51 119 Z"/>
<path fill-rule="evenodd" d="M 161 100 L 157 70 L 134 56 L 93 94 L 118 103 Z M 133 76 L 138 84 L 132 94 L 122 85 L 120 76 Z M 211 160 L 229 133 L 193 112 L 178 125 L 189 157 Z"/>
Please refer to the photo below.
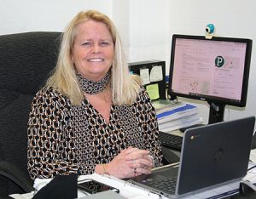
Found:
<path fill-rule="evenodd" d="M 178 96 L 178 97 L 184 97 L 189 99 L 199 99 L 199 100 L 207 101 L 209 104 L 216 103 L 218 105 L 234 105 L 239 107 L 246 106 L 253 41 L 247 38 L 236 38 L 236 37 L 212 37 L 211 38 L 212 41 L 224 41 L 224 42 L 233 42 L 233 43 L 235 42 L 235 43 L 247 44 L 245 66 L 244 66 L 242 88 L 241 88 L 241 101 L 236 101 L 236 100 L 220 98 L 212 95 L 191 95 L 191 94 L 181 94 L 181 93 L 172 91 L 172 76 L 173 76 L 173 67 L 174 67 L 173 64 L 174 64 L 175 44 L 178 38 L 192 39 L 192 40 L 209 40 L 204 36 L 180 35 L 180 34 L 172 35 L 171 62 L 170 62 L 170 70 L 169 70 L 169 82 L 168 82 L 168 94 L 170 95 L 171 99 L 175 99 Z"/>

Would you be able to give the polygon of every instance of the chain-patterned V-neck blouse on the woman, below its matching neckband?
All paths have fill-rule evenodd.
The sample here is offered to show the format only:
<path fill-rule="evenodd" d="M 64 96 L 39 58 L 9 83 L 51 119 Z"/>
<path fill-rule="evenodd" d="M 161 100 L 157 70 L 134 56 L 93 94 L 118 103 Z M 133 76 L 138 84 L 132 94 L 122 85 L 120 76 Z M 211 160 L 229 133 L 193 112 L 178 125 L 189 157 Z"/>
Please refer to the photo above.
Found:
<path fill-rule="evenodd" d="M 150 151 L 161 165 L 158 123 L 143 88 L 133 105 L 111 106 L 109 123 L 87 99 L 71 105 L 58 90 L 43 88 L 32 100 L 27 134 L 32 179 L 94 173 L 128 146 Z"/>

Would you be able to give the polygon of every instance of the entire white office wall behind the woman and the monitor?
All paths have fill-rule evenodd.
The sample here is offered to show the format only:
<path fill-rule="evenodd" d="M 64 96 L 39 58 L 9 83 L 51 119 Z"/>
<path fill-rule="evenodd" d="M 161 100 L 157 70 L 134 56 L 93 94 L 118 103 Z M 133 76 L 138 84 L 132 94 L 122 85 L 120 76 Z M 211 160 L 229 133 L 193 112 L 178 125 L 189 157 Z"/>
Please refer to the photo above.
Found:
<path fill-rule="evenodd" d="M 256 3 L 252 0 L 0 0 L 0 35 L 25 31 L 63 31 L 80 10 L 98 9 L 119 29 L 128 61 L 166 60 L 170 65 L 172 34 L 204 35 L 213 23 L 220 37 L 247 37 L 256 41 Z M 254 43 L 254 45 L 256 45 Z M 256 57 L 251 62 L 247 107 L 226 107 L 225 120 L 256 116 Z M 208 105 L 199 105 L 208 120 Z"/>

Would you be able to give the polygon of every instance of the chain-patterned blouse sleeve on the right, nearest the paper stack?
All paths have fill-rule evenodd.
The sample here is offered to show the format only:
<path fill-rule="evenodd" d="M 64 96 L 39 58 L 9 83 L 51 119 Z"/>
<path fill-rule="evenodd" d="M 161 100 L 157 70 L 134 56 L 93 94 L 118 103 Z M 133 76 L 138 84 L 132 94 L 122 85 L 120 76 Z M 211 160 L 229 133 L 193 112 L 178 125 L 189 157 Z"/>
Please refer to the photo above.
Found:
<path fill-rule="evenodd" d="M 154 159 L 154 167 L 162 165 L 162 152 L 159 140 L 159 128 L 154 106 L 148 96 L 148 93 L 142 88 L 139 100 L 143 101 L 143 110 L 141 111 L 141 121 L 143 123 L 143 140 L 145 149 L 150 151 Z"/>

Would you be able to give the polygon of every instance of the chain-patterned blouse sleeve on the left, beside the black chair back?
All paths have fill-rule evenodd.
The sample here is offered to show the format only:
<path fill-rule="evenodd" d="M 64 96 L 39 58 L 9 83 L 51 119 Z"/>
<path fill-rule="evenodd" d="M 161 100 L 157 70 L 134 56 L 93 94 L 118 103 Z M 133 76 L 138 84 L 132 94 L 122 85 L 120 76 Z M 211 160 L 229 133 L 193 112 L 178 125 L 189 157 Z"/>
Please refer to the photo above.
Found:
<path fill-rule="evenodd" d="M 58 92 L 42 89 L 28 119 L 27 166 L 32 179 L 77 173 L 70 105 Z"/>

